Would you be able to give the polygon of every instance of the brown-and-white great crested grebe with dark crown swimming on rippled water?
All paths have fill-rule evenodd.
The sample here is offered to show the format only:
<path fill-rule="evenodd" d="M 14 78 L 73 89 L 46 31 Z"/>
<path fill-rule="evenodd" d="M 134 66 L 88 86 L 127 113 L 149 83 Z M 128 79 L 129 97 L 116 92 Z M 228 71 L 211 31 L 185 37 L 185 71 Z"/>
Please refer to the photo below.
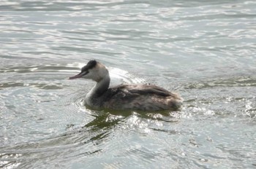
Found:
<path fill-rule="evenodd" d="M 78 75 L 69 77 L 76 78 L 97 82 L 86 95 L 86 104 L 93 109 L 175 111 L 183 101 L 179 95 L 151 84 L 120 84 L 109 87 L 108 69 L 96 60 L 90 60 Z"/>

